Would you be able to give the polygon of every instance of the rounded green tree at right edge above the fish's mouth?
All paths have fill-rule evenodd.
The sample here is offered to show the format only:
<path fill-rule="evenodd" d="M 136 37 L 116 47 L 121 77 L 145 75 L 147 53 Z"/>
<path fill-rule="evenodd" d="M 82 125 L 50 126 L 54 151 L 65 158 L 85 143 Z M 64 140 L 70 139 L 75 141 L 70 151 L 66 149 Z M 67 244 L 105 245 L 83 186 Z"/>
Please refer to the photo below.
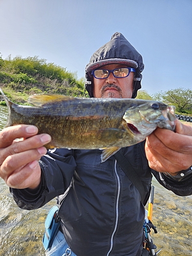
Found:
<path fill-rule="evenodd" d="M 163 99 L 169 104 L 174 104 L 178 112 L 185 113 L 192 110 L 192 90 L 190 89 L 180 87 L 169 90 L 164 93 Z"/>

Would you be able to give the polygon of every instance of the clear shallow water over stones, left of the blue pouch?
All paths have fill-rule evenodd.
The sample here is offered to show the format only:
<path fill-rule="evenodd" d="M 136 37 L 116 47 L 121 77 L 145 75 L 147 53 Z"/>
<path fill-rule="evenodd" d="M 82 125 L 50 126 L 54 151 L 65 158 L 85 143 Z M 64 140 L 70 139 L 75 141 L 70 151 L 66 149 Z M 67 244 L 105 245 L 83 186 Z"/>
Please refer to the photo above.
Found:
<path fill-rule="evenodd" d="M 54 201 L 37 210 L 22 210 L 0 178 L 0 255 L 45 255 L 44 222 Z"/>

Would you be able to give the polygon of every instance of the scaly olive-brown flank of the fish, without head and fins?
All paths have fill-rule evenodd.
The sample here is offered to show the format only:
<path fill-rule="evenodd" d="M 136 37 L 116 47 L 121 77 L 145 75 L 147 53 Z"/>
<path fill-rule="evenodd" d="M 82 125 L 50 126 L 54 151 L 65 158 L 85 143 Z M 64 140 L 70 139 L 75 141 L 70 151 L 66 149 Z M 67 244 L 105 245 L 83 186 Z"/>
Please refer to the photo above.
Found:
<path fill-rule="evenodd" d="M 29 108 L 12 104 L 11 123 L 33 124 L 40 133 L 51 135 L 52 142 L 47 147 L 99 148 L 113 145 L 111 138 L 102 138 L 99 130 L 121 126 L 122 116 L 127 109 L 125 102 L 120 101 L 111 108 L 110 101 L 84 100 L 55 102 L 44 108 Z M 119 111 L 121 110 L 121 111 Z M 30 117 L 30 118 L 29 118 Z M 115 139 L 115 138 L 114 138 Z"/>

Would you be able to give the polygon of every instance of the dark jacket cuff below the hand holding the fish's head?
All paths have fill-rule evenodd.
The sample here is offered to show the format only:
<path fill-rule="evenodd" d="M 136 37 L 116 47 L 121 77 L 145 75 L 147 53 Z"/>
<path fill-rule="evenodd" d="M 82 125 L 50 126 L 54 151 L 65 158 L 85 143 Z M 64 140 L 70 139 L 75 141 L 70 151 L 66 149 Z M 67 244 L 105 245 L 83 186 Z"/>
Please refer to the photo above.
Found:
<path fill-rule="evenodd" d="M 161 185 L 173 191 L 176 195 L 183 197 L 192 195 L 192 175 L 189 175 L 187 179 L 183 181 L 176 181 L 153 169 L 152 173 Z"/>

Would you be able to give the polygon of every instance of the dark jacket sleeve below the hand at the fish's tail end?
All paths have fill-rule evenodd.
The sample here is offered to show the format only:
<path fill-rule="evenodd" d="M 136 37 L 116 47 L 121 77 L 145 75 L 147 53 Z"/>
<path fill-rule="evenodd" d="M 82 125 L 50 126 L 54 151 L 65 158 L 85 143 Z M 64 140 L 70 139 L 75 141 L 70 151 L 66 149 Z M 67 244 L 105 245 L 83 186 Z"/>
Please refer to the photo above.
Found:
<path fill-rule="evenodd" d="M 41 183 L 37 189 L 10 188 L 13 199 L 22 209 L 40 208 L 53 198 L 65 193 L 76 168 L 73 150 L 65 148 L 48 151 L 39 160 Z"/>

